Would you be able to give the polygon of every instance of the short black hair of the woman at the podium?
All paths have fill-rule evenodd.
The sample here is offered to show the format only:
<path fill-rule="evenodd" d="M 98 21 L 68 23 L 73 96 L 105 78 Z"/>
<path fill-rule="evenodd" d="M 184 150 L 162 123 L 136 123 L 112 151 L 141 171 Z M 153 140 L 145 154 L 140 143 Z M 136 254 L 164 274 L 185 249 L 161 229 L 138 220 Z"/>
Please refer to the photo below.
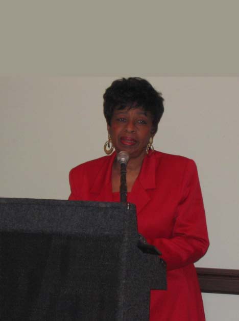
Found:
<path fill-rule="evenodd" d="M 164 112 L 161 93 L 157 92 L 153 86 L 140 77 L 129 77 L 116 79 L 104 95 L 104 116 L 108 125 L 111 123 L 115 109 L 122 110 L 126 106 L 130 108 L 142 108 L 150 112 L 153 117 L 153 133 L 158 129 L 158 123 Z"/>

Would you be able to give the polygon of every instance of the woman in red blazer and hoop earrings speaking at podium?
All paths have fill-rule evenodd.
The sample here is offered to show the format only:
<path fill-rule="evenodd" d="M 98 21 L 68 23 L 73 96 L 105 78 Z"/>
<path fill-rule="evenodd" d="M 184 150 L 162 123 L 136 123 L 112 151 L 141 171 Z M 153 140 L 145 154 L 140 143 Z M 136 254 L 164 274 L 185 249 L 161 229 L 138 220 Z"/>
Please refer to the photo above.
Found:
<path fill-rule="evenodd" d="M 163 98 L 145 79 L 114 81 L 104 94 L 108 141 L 104 156 L 70 171 L 70 200 L 119 201 L 116 153 L 129 153 L 128 201 L 136 205 L 138 232 L 167 264 L 166 291 L 152 290 L 150 321 L 205 320 L 194 262 L 209 242 L 197 174 L 191 159 L 153 149 Z"/>

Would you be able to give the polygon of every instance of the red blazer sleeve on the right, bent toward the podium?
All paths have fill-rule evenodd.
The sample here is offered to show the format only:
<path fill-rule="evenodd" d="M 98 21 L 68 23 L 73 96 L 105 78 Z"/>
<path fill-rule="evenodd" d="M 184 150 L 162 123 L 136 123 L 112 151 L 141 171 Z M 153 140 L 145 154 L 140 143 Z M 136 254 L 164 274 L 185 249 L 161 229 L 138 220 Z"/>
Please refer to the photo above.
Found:
<path fill-rule="evenodd" d="M 162 253 L 167 270 L 179 269 L 196 262 L 209 246 L 198 172 L 192 159 L 185 166 L 180 195 L 172 236 L 147 238 Z"/>

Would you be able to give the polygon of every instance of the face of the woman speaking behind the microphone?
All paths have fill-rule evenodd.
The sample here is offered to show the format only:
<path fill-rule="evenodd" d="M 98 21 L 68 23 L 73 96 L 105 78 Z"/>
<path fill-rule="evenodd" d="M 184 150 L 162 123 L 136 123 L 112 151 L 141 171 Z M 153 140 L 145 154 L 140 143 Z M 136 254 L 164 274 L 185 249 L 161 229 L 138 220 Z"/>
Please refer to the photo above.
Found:
<path fill-rule="evenodd" d="M 141 108 L 114 110 L 107 126 L 116 152 L 127 151 L 130 158 L 143 157 L 152 134 L 152 116 Z"/>

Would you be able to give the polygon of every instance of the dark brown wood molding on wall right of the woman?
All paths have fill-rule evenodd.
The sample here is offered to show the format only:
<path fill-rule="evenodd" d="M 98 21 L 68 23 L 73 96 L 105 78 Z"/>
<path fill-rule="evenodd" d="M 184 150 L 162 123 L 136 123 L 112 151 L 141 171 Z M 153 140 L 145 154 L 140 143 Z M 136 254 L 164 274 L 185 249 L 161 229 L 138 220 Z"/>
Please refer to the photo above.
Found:
<path fill-rule="evenodd" d="M 196 268 L 202 292 L 239 295 L 239 270 Z"/>

